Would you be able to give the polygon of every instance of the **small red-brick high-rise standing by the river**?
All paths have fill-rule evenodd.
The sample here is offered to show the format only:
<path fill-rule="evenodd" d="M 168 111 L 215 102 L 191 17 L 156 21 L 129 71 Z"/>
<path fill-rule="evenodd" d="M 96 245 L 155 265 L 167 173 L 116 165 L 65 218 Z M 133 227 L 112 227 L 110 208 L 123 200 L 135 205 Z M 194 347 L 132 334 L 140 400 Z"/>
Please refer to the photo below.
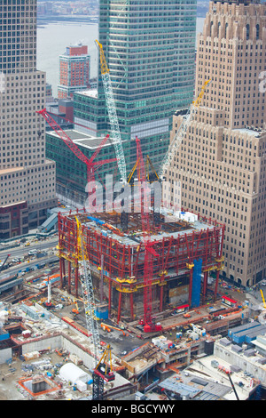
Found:
<path fill-rule="evenodd" d="M 59 99 L 73 98 L 74 92 L 90 86 L 90 55 L 88 46 L 67 46 L 59 57 Z"/>

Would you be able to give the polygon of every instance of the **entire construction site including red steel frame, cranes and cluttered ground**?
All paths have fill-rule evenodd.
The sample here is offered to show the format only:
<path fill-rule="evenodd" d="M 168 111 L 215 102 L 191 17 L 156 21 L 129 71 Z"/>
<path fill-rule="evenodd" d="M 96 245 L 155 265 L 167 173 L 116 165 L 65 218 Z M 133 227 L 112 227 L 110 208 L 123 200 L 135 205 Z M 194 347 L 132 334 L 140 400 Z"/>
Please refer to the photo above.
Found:
<path fill-rule="evenodd" d="M 59 212 L 58 243 L 49 248 L 56 253 L 59 267 L 53 264 L 43 272 L 33 266 L 33 271 L 23 272 L 23 278 L 19 271 L 19 282 L 8 286 L 4 282 L 1 396 L 54 400 L 250 398 L 258 387 L 266 388 L 264 319 L 250 326 L 266 308 L 254 309 L 251 315 L 245 295 L 239 292 L 232 297 L 223 292 L 223 224 L 184 208 L 167 207 L 162 201 L 155 205 L 155 195 L 150 193 L 154 181 L 164 184 L 166 168 L 209 80 L 184 117 L 160 173 L 152 170 L 150 176 L 147 172 L 136 138 L 137 161 L 128 175 L 109 70 L 102 46 L 98 47 L 121 186 L 136 188 L 139 193 L 132 193 L 133 200 L 123 197 L 121 212 L 92 212 L 86 207 Z M 92 185 L 89 197 L 93 196 L 96 169 L 106 164 L 106 160 L 94 160 L 109 136 L 89 159 L 46 109 L 38 113 L 86 165 L 87 181 Z M 153 168 L 151 162 L 150 166 Z M 21 288 L 27 288 L 27 294 Z M 14 295 L 17 297 L 12 299 Z M 232 337 L 236 328 L 239 340 Z M 251 353 L 256 339 L 257 350 Z M 236 344 L 240 344 L 239 350 Z M 259 379 L 254 377 L 258 369 Z"/>

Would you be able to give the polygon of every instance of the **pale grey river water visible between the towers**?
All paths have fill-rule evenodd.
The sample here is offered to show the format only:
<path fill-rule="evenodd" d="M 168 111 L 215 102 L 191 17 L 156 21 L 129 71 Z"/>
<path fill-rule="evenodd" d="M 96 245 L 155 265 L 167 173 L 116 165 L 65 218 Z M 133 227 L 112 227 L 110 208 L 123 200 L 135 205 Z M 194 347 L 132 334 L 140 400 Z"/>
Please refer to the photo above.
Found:
<path fill-rule="evenodd" d="M 205 18 L 197 18 L 196 33 L 202 31 Z M 52 86 L 54 97 L 58 94 L 59 55 L 66 52 L 69 44 L 88 45 L 90 77 L 98 75 L 98 24 L 88 22 L 39 22 L 37 27 L 37 69 L 45 71 L 46 81 Z"/>

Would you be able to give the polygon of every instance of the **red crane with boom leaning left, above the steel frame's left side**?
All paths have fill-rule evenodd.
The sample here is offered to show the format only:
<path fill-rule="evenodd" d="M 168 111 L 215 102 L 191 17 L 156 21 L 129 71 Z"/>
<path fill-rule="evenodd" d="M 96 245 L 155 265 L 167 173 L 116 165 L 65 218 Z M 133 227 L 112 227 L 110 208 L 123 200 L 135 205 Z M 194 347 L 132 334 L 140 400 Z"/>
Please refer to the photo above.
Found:
<path fill-rule="evenodd" d="M 95 172 L 100 165 L 113 163 L 114 161 L 116 161 L 116 158 L 105 159 L 101 161 L 94 161 L 95 158 L 98 156 L 98 153 L 100 152 L 100 150 L 106 144 L 106 141 L 108 140 L 109 135 L 106 135 L 106 137 L 103 139 L 103 141 L 101 141 L 100 145 L 98 146 L 98 149 L 93 153 L 93 155 L 89 159 L 88 157 L 84 156 L 81 149 L 79 149 L 78 146 L 74 143 L 74 141 L 72 141 L 69 138 L 69 136 L 65 133 L 65 131 L 63 131 L 63 129 L 59 126 L 59 124 L 51 117 L 51 115 L 47 112 L 46 109 L 38 110 L 36 113 L 39 113 L 40 115 L 44 117 L 48 125 L 51 126 L 51 129 L 53 129 L 53 131 L 59 135 L 59 138 L 61 138 L 61 140 L 65 142 L 67 147 L 71 149 L 72 152 L 74 152 L 74 155 L 87 165 L 87 182 L 88 183 L 90 181 L 95 182 Z"/>

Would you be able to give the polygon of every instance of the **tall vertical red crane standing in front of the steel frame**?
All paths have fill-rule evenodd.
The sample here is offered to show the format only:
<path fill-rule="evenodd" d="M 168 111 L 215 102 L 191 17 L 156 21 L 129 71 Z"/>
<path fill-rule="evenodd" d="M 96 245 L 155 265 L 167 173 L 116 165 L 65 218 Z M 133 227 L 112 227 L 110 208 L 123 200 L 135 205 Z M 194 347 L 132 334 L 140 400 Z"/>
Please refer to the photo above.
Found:
<path fill-rule="evenodd" d="M 136 138 L 137 142 L 137 161 L 138 164 L 138 181 L 141 181 L 140 185 L 140 204 L 141 204 L 141 219 L 142 219 L 142 231 L 144 234 L 145 245 L 145 265 L 144 265 L 144 320 L 140 320 L 140 324 L 144 325 L 144 332 L 151 333 L 160 331 L 161 326 L 155 324 L 153 321 L 153 309 L 152 309 L 152 281 L 153 281 L 153 258 L 158 257 L 159 254 L 153 248 L 153 243 L 150 240 L 151 229 L 149 220 L 149 208 L 148 208 L 148 185 L 145 175 L 145 161 L 142 154 L 140 140 Z"/>

